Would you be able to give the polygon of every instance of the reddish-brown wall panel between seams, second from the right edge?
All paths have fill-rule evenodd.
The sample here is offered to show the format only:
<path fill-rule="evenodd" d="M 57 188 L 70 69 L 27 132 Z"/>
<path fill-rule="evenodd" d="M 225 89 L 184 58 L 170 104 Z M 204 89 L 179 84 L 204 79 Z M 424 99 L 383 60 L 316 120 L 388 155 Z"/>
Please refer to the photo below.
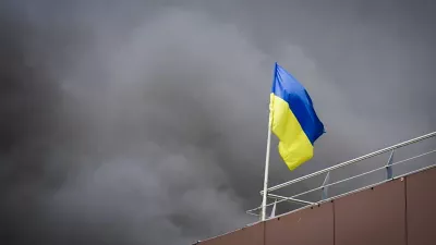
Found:
<path fill-rule="evenodd" d="M 404 181 L 335 200 L 335 245 L 405 245 Z"/>

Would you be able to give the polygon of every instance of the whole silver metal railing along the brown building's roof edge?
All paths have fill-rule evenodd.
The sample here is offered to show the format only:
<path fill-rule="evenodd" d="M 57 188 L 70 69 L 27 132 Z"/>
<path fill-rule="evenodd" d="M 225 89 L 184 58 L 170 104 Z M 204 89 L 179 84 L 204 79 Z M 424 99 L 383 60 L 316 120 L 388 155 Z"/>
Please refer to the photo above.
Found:
<path fill-rule="evenodd" d="M 397 144 L 397 145 L 393 145 L 393 146 L 390 146 L 390 147 L 387 147 L 387 148 L 384 148 L 384 149 L 380 149 L 380 150 L 377 150 L 377 151 L 374 151 L 374 152 L 371 152 L 371 154 L 367 154 L 367 155 L 364 155 L 362 157 L 359 157 L 359 158 L 355 158 L 355 159 L 352 159 L 352 160 L 349 160 L 349 161 L 332 166 L 330 168 L 326 168 L 324 170 L 319 170 L 317 172 L 314 172 L 314 173 L 298 177 L 295 180 L 284 182 L 282 184 L 278 184 L 278 185 L 271 186 L 271 187 L 269 187 L 267 189 L 267 197 L 270 198 L 270 199 L 274 199 L 275 201 L 270 203 L 270 204 L 267 204 L 267 207 L 269 207 L 271 205 L 277 205 L 277 204 L 282 203 L 282 201 L 290 201 L 290 203 L 302 205 L 302 207 L 298 208 L 298 209 L 301 209 L 301 208 L 305 208 L 307 206 L 318 205 L 318 204 L 322 204 L 322 203 L 338 198 L 340 196 L 349 195 L 351 193 L 355 193 L 355 192 L 359 192 L 359 191 L 362 191 L 362 189 L 365 189 L 365 188 L 368 188 L 368 187 L 372 187 L 372 186 L 375 186 L 375 185 L 379 185 L 379 184 L 383 184 L 385 182 L 391 181 L 393 179 L 402 177 L 402 176 L 405 176 L 405 175 L 409 175 L 409 174 L 412 174 L 412 173 L 415 173 L 415 172 L 419 172 L 419 171 L 423 171 L 423 170 L 436 167 L 436 158 L 435 158 L 435 161 L 433 161 L 433 163 L 429 163 L 428 166 L 426 166 L 424 168 L 414 169 L 412 171 L 409 171 L 409 172 L 407 172 L 404 174 L 401 174 L 401 175 L 398 175 L 398 176 L 393 176 L 393 173 L 392 173 L 392 167 L 395 167 L 395 166 L 402 164 L 402 163 L 405 163 L 405 162 L 410 162 L 412 160 L 415 160 L 417 158 L 422 158 L 424 156 L 436 154 L 436 149 L 432 149 L 429 151 L 426 151 L 426 152 L 423 152 L 423 154 L 420 154 L 420 155 L 415 155 L 413 157 L 410 157 L 410 158 L 407 158 L 407 159 L 403 159 L 403 160 L 400 160 L 400 161 L 397 161 L 397 162 L 392 162 L 393 161 L 393 155 L 395 155 L 396 150 L 398 150 L 398 149 L 400 149 L 402 147 L 405 147 L 405 146 L 409 146 L 409 145 L 412 145 L 412 144 L 415 144 L 415 143 L 419 143 L 419 142 L 422 142 L 422 140 L 425 140 L 425 139 L 428 139 L 428 138 L 432 138 L 432 137 L 436 137 L 436 132 L 433 132 L 433 133 L 429 133 L 429 134 L 426 134 L 426 135 L 423 135 L 423 136 L 420 136 L 420 137 L 416 137 L 416 138 L 412 138 L 410 140 L 407 140 L 407 142 L 403 142 L 403 143 L 400 143 L 400 144 Z M 370 158 L 374 158 L 376 156 L 379 156 L 379 155 L 383 155 L 383 154 L 387 154 L 387 152 L 390 152 L 390 156 L 389 156 L 389 159 L 388 159 L 388 161 L 387 161 L 387 163 L 385 166 L 376 168 L 376 169 L 373 169 L 373 170 L 370 170 L 370 171 L 366 171 L 366 172 L 363 172 L 363 173 L 360 173 L 360 174 L 352 175 L 350 177 L 346 177 L 346 179 L 329 183 L 330 173 L 334 170 L 338 170 L 338 169 L 344 168 L 347 166 L 355 164 L 355 163 L 361 162 L 363 160 L 366 160 L 366 159 L 370 159 Z M 340 183 L 344 183 L 344 182 L 348 182 L 348 181 L 351 181 L 351 180 L 354 180 L 356 177 L 361 177 L 361 176 L 364 176 L 364 175 L 367 175 L 367 174 L 371 174 L 371 173 L 375 173 L 375 172 L 382 171 L 382 170 L 386 170 L 386 177 L 384 180 L 375 182 L 375 183 L 372 183 L 370 185 L 366 185 L 366 186 L 363 186 L 363 187 L 360 187 L 360 188 L 352 189 L 350 192 L 346 192 L 346 193 L 341 193 L 341 194 L 337 194 L 335 196 L 328 197 L 328 187 L 337 185 L 337 184 L 340 184 Z M 282 195 L 271 194 L 271 192 L 274 192 L 274 191 L 281 189 L 283 187 L 290 186 L 290 185 L 295 184 L 295 183 L 300 183 L 302 181 L 312 179 L 312 177 L 320 175 L 320 174 L 326 174 L 326 176 L 324 179 L 323 184 L 320 186 L 318 186 L 318 187 L 315 187 L 315 188 L 312 188 L 312 189 L 308 189 L 308 191 L 305 191 L 305 192 L 301 192 L 301 193 L 294 194 L 294 195 L 289 196 L 289 197 L 282 196 Z M 322 197 L 320 197 L 320 199 L 318 201 L 308 201 L 308 200 L 303 200 L 303 199 L 299 199 L 298 198 L 298 197 L 301 197 L 303 195 L 306 195 L 306 194 L 310 194 L 310 193 L 314 193 L 316 191 L 320 191 L 322 192 L 322 195 L 320 195 Z M 263 195 L 263 193 L 264 192 L 262 191 L 261 195 Z M 256 211 L 258 211 L 261 209 L 262 209 L 262 207 L 250 209 L 250 210 L 246 211 L 246 213 L 258 216 L 258 213 L 256 213 Z M 295 209 L 291 210 L 291 211 L 295 211 Z"/>

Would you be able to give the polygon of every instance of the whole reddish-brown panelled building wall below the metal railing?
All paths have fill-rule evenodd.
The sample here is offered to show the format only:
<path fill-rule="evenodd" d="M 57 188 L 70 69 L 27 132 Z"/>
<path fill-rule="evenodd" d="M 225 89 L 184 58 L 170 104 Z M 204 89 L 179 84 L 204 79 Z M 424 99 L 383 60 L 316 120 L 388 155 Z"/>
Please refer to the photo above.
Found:
<path fill-rule="evenodd" d="M 433 245 L 436 168 L 395 180 L 201 245 Z"/>

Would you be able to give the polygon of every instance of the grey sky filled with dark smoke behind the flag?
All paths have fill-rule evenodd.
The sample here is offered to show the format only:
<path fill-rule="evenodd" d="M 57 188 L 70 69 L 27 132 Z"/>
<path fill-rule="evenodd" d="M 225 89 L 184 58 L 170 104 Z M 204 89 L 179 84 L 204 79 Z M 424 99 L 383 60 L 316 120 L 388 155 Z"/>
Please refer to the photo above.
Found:
<path fill-rule="evenodd" d="M 435 131 L 435 10 L 2 1 L 0 243 L 179 245 L 255 222 L 276 61 L 327 133 L 293 172 L 274 138 L 270 184 Z"/>

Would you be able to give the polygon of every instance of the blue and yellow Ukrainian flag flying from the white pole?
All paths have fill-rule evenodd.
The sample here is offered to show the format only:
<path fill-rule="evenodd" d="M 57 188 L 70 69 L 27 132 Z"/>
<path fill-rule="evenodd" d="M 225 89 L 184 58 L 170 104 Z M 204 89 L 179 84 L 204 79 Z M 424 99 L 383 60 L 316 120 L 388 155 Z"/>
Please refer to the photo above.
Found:
<path fill-rule="evenodd" d="M 306 89 L 277 63 L 269 122 L 279 138 L 279 154 L 291 171 L 313 157 L 314 143 L 325 133 Z"/>

